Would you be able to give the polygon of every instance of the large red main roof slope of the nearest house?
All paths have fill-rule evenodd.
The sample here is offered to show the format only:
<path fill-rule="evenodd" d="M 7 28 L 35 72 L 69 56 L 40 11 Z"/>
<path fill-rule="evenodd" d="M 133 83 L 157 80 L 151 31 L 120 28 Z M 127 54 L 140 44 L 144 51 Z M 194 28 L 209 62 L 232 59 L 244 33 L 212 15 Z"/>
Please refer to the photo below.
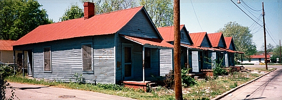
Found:
<path fill-rule="evenodd" d="M 143 7 L 135 7 L 95 15 L 89 19 L 76 18 L 64 22 L 41 25 L 18 39 L 12 46 L 73 37 L 113 34 L 122 29 L 142 9 Z"/>

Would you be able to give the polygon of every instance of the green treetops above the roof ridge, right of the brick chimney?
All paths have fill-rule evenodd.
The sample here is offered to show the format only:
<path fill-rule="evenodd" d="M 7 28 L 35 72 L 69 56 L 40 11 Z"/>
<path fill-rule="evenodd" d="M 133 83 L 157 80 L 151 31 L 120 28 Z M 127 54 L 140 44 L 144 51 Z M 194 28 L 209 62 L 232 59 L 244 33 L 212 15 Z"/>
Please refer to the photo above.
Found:
<path fill-rule="evenodd" d="M 80 2 L 91 2 L 95 4 L 95 14 L 102 14 L 117 10 L 136 7 L 134 0 L 80 0 Z"/>

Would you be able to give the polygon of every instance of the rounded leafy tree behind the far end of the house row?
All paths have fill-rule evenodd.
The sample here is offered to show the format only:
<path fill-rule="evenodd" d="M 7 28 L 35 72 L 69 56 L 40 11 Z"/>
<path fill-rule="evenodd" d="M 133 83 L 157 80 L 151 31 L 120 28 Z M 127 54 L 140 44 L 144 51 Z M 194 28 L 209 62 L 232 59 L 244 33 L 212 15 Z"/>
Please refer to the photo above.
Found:
<path fill-rule="evenodd" d="M 236 22 L 229 22 L 225 24 L 224 28 L 218 30 L 218 32 L 223 32 L 225 37 L 232 37 L 234 45 L 237 51 L 245 52 L 244 58 L 249 59 L 250 55 L 255 54 L 256 46 L 253 43 L 253 35 L 250 33 L 248 27 L 239 25 Z M 239 59 L 240 56 L 235 56 Z M 239 57 L 239 58 L 237 58 Z"/>

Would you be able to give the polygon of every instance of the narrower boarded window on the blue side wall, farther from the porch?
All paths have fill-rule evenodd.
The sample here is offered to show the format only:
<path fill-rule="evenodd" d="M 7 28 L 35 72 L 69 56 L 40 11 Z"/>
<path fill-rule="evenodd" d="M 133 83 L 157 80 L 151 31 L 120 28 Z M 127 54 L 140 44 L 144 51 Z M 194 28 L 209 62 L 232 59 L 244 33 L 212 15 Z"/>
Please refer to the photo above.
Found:
<path fill-rule="evenodd" d="M 44 49 L 44 71 L 51 71 L 51 48 Z"/>

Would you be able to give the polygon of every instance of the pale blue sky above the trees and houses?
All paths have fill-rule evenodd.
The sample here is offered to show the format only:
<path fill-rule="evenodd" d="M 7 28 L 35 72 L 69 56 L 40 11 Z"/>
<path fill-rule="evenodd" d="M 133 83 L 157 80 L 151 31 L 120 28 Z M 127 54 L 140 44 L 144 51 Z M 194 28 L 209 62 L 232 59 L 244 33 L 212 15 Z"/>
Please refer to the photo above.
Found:
<path fill-rule="evenodd" d="M 83 8 L 79 0 L 37 0 L 41 8 L 47 10 L 49 18 L 59 21 L 65 10 L 72 4 Z M 233 4 L 232 1 L 235 3 Z M 180 24 L 185 25 L 189 33 L 214 33 L 224 28 L 228 22 L 236 22 L 249 27 L 253 34 L 253 42 L 257 50 L 264 45 L 263 17 L 261 16 L 264 2 L 267 44 L 279 45 L 282 39 L 282 0 L 180 0 Z M 243 2 L 248 5 L 246 6 Z M 256 24 L 252 17 L 258 24 Z M 251 9 L 250 9 L 251 8 Z M 255 11 L 256 10 L 256 11 Z"/>

